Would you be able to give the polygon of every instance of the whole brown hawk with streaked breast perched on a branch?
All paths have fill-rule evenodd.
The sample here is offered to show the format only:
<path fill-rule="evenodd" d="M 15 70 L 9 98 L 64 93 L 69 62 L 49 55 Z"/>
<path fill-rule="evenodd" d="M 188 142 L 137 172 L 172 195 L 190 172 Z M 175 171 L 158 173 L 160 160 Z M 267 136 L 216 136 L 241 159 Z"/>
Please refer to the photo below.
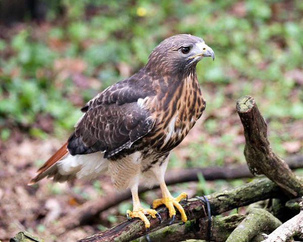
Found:
<path fill-rule="evenodd" d="M 146 229 L 146 215 L 160 215 L 164 204 L 173 223 L 176 209 L 182 221 L 187 217 L 179 204 L 185 192 L 173 198 L 164 174 L 171 151 L 184 139 L 206 107 L 196 76 L 196 64 L 203 57 L 215 58 L 204 40 L 189 34 L 169 37 L 155 47 L 147 64 L 134 75 L 97 94 L 83 106 L 68 141 L 37 171 L 29 184 L 44 177 L 54 181 L 95 178 L 110 174 L 118 190 L 132 193 L 133 211 L 127 217 L 140 218 Z M 162 198 L 152 209 L 142 208 L 138 197 L 139 176 L 147 185 L 160 184 Z M 176 208 L 176 209 L 175 209 Z"/>

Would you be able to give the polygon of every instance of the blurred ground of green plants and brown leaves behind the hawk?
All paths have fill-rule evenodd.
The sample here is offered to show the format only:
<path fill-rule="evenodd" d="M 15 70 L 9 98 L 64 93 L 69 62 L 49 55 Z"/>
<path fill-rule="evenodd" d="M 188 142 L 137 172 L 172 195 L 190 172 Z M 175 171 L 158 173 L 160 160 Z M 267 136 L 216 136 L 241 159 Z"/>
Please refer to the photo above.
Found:
<path fill-rule="evenodd" d="M 26 229 L 75 241 L 126 219 L 131 200 L 59 232 L 81 206 L 113 194 L 110 179 L 27 182 L 69 137 L 79 109 L 143 67 L 171 35 L 202 37 L 216 59 L 197 65 L 207 108 L 168 170 L 245 163 L 235 110 L 242 95 L 255 98 L 278 155 L 302 153 L 302 16 L 300 0 L 0 0 L 0 239 Z M 201 177 L 170 190 L 192 197 L 247 181 Z M 159 196 L 145 192 L 143 206 Z"/>

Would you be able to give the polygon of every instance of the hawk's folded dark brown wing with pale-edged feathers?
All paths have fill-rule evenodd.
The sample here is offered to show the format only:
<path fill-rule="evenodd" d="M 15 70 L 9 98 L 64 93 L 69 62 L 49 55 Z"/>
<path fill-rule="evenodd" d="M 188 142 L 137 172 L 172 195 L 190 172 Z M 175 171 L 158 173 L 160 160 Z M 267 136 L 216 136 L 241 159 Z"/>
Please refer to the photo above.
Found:
<path fill-rule="evenodd" d="M 151 85 L 138 84 L 136 74 L 99 93 L 81 109 L 85 112 L 68 139 L 71 155 L 104 152 L 109 158 L 145 136 L 155 120 L 137 104 L 138 99 L 152 98 Z M 142 83 L 148 83 L 146 80 Z"/>

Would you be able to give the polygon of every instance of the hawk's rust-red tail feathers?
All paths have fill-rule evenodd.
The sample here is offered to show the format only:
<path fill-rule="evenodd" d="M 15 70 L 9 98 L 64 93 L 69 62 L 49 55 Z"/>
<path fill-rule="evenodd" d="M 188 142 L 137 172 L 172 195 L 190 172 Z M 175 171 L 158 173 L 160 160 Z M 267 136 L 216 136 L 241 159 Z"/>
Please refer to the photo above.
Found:
<path fill-rule="evenodd" d="M 43 179 L 45 176 L 52 177 L 55 175 L 55 173 L 58 171 L 58 169 L 50 169 L 53 167 L 53 165 L 57 162 L 62 160 L 64 156 L 68 154 L 67 150 L 67 142 L 63 144 L 63 146 L 51 157 L 44 163 L 43 166 L 37 170 L 37 175 L 31 179 L 28 183 L 28 185 L 32 185 L 36 183 L 37 181 Z"/>

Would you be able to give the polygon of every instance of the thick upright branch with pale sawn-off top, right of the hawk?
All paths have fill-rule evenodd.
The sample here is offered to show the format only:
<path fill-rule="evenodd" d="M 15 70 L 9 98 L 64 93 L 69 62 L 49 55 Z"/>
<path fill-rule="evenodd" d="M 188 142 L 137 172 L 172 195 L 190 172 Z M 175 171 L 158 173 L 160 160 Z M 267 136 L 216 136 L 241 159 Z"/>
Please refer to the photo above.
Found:
<path fill-rule="evenodd" d="M 255 100 L 251 96 L 242 96 L 237 102 L 236 109 L 244 127 L 244 156 L 250 172 L 254 175 L 266 175 L 289 196 L 302 196 L 302 184 L 286 162 L 269 146 L 267 125 Z"/>

